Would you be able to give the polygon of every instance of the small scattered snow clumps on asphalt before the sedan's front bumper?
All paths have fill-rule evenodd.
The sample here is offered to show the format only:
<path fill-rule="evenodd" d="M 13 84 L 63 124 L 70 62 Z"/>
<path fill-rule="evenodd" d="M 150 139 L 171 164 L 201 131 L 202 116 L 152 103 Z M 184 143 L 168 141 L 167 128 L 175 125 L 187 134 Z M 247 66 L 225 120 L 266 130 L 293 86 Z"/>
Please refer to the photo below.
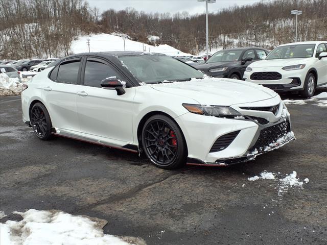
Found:
<path fill-rule="evenodd" d="M 272 173 L 263 171 L 260 176 L 253 176 L 250 178 L 247 178 L 248 181 L 256 181 L 256 180 L 274 180 L 277 181 L 277 188 L 278 188 L 278 196 L 281 197 L 284 192 L 288 191 L 291 187 L 299 187 L 302 188 L 302 185 L 304 183 L 309 183 L 309 179 L 306 178 L 303 181 L 300 181 L 298 178 L 296 178 L 296 171 L 292 171 L 290 175 L 286 175 L 284 178 L 276 178 L 277 175 L 280 173 Z M 277 189 L 276 188 L 276 189 Z"/>

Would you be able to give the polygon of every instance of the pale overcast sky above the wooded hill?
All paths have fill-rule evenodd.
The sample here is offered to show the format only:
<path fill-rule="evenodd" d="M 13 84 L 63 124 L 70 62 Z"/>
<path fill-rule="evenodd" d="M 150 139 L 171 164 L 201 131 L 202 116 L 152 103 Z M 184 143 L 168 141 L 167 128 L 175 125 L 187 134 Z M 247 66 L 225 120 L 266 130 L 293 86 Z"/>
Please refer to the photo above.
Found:
<path fill-rule="evenodd" d="M 176 13 L 188 11 L 190 14 L 201 14 L 205 12 L 205 3 L 197 0 L 88 0 L 90 7 L 98 7 L 100 13 L 107 9 L 124 10 L 132 7 L 138 11 L 148 13 Z M 260 0 L 217 0 L 209 4 L 209 12 L 217 12 L 222 8 L 233 5 L 247 5 L 260 2 Z"/>

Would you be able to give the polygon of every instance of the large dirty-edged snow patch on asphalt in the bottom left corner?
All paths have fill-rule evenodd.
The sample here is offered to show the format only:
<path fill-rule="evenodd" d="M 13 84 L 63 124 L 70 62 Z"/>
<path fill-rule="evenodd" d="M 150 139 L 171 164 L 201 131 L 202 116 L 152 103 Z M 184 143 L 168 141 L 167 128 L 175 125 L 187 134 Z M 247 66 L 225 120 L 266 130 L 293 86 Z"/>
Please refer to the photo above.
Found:
<path fill-rule="evenodd" d="M 119 238 L 103 233 L 106 220 L 74 216 L 62 211 L 13 212 L 23 217 L 21 221 L 7 220 L 1 223 L 0 243 L 22 244 L 71 244 L 71 245 L 128 245 L 145 244 L 132 237 Z M 133 243 L 130 243 L 133 242 Z"/>

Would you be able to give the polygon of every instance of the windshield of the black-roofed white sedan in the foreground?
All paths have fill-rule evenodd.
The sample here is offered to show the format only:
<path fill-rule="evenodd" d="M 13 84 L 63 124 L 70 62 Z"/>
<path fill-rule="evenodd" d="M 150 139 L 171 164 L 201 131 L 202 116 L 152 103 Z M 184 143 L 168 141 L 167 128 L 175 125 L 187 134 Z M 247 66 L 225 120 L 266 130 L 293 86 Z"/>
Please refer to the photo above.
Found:
<path fill-rule="evenodd" d="M 144 83 L 189 81 L 204 76 L 201 71 L 164 55 L 121 56 L 119 59 Z"/>

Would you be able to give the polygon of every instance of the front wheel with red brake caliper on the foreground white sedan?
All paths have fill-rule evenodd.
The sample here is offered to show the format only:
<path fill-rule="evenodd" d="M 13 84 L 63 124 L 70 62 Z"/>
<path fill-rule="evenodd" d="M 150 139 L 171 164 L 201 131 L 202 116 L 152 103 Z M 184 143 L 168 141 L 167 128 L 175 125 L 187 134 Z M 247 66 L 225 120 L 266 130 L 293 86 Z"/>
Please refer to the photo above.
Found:
<path fill-rule="evenodd" d="M 187 148 L 175 121 L 165 115 L 151 116 L 142 130 L 143 150 L 160 168 L 173 169 L 186 163 Z"/>

